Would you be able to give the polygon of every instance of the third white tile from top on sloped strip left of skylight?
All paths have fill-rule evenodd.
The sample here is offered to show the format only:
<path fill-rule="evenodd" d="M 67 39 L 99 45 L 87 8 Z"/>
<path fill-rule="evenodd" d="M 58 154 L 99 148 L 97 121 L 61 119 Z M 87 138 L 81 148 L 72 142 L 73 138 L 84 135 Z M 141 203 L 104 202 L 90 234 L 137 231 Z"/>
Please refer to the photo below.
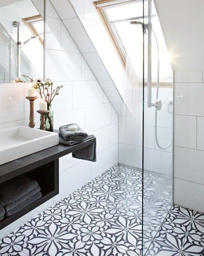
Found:
<path fill-rule="evenodd" d="M 111 81 L 111 77 L 109 76 L 108 71 L 106 70 L 97 52 L 83 53 L 82 55 L 84 56 L 97 80 Z"/>

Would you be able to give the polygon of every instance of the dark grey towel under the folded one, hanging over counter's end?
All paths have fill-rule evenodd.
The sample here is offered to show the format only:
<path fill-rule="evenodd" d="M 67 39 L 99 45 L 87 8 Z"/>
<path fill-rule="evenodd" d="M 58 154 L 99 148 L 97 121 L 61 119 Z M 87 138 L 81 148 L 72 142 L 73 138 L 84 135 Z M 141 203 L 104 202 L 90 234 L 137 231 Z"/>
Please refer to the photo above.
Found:
<path fill-rule="evenodd" d="M 94 135 L 88 135 L 88 137 L 85 140 L 82 140 L 83 142 L 89 139 L 95 138 Z M 65 145 L 70 145 L 69 141 L 64 140 L 61 134 L 59 134 L 59 143 L 65 144 Z M 79 143 L 77 141 L 74 144 Z M 73 144 L 72 144 L 73 145 Z M 92 143 L 91 145 L 86 146 L 85 148 L 81 148 L 77 151 L 74 151 L 72 153 L 72 157 L 82 159 L 82 160 L 88 160 L 92 162 L 96 162 L 96 142 Z"/>

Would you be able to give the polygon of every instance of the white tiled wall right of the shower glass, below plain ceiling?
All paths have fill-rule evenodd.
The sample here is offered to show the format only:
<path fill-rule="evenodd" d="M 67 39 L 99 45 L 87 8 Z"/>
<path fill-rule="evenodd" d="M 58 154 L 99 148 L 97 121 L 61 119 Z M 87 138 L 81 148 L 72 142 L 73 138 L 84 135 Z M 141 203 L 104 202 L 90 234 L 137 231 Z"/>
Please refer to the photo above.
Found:
<path fill-rule="evenodd" d="M 175 73 L 174 201 L 204 212 L 204 72 Z"/>

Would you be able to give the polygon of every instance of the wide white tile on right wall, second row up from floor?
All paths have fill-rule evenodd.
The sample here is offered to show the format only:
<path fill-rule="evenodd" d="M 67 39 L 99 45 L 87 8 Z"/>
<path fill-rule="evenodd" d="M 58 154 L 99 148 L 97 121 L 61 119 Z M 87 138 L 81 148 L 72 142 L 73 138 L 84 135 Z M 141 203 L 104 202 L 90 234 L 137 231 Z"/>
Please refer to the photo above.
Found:
<path fill-rule="evenodd" d="M 204 184 L 204 151 L 175 147 L 174 154 L 175 177 Z"/>

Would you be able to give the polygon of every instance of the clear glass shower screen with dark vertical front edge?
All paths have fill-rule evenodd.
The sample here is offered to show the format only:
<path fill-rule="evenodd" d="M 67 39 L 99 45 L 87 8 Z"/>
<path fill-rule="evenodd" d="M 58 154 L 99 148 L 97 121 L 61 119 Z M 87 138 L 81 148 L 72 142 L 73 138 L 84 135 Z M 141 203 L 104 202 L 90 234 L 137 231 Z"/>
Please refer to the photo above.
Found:
<path fill-rule="evenodd" d="M 173 204 L 173 72 L 153 0 L 144 27 L 143 255 L 156 255 L 151 242 Z"/>

